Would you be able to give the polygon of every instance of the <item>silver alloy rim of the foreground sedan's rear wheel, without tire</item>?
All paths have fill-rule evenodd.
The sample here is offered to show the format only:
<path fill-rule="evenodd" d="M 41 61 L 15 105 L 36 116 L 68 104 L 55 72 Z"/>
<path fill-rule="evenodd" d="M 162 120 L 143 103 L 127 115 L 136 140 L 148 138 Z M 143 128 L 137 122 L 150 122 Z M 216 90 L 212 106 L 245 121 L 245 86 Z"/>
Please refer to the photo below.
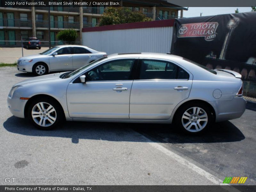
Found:
<path fill-rule="evenodd" d="M 199 132 L 207 125 L 208 116 L 204 109 L 192 107 L 183 113 L 181 121 L 187 131 Z"/>

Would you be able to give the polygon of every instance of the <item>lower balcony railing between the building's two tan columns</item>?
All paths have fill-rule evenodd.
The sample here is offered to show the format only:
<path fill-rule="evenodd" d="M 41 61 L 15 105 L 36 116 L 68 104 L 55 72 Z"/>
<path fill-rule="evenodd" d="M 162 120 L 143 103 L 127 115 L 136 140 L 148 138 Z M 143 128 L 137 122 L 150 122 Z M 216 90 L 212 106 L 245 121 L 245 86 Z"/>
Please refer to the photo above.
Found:
<path fill-rule="evenodd" d="M 80 29 L 79 22 L 68 22 L 68 21 L 50 21 L 51 28 L 74 28 Z M 48 21 L 36 21 L 36 27 L 48 28 Z"/>

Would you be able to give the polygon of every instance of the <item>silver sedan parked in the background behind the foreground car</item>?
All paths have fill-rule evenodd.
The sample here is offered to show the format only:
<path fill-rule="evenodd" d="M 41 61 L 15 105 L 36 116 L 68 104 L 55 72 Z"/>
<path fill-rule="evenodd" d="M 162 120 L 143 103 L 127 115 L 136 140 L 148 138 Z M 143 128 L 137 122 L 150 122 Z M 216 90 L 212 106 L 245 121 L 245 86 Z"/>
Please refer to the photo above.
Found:
<path fill-rule="evenodd" d="M 21 57 L 17 68 L 40 76 L 52 71 L 76 70 L 106 55 L 86 46 L 59 45 L 36 55 Z"/>

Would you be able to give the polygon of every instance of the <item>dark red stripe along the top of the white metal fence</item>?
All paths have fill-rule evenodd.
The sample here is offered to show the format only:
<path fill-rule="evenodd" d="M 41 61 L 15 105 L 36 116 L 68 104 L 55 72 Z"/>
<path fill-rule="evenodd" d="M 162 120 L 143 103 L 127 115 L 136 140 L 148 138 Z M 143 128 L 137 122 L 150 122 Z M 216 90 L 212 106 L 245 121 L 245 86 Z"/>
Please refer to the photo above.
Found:
<path fill-rule="evenodd" d="M 124 23 L 118 25 L 105 25 L 99 27 L 83 28 L 82 32 L 91 31 L 110 31 L 110 30 L 123 30 L 123 29 L 136 29 L 136 28 L 156 28 L 156 27 L 172 27 L 174 19 L 137 22 L 137 23 Z"/>

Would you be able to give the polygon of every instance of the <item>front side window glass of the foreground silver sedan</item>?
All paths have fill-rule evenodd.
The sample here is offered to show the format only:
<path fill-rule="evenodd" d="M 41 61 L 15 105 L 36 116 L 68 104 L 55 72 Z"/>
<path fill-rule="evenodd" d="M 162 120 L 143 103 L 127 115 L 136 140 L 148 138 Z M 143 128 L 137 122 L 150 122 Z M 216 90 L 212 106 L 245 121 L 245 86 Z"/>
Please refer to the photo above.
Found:
<path fill-rule="evenodd" d="M 86 74 L 87 81 L 131 80 L 135 59 L 122 59 L 106 62 Z"/>

